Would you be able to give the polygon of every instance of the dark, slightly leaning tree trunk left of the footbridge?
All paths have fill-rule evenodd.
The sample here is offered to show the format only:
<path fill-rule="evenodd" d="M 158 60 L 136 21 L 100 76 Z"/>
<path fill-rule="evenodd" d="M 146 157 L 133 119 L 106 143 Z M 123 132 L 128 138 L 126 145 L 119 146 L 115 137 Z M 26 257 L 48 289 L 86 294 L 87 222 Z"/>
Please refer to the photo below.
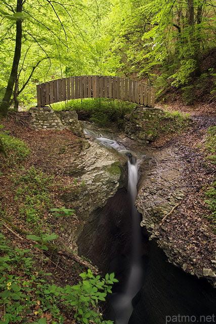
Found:
<path fill-rule="evenodd" d="M 17 12 L 22 12 L 23 0 L 17 0 Z M 11 74 L 8 80 L 8 85 L 6 88 L 3 101 L 0 105 L 0 115 L 6 116 L 8 109 L 10 107 L 10 100 L 13 94 L 14 83 L 17 77 L 17 70 L 21 55 L 21 45 L 22 45 L 22 19 L 17 19 L 16 21 L 16 46 L 14 51 L 14 60 L 11 68 Z"/>

